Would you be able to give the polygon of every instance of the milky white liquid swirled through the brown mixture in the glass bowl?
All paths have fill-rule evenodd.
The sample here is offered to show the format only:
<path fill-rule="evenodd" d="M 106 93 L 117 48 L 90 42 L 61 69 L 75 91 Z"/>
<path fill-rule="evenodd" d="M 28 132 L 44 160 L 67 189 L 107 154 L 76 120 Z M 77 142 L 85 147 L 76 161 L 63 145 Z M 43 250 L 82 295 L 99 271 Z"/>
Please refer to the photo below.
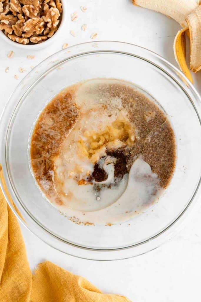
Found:
<path fill-rule="evenodd" d="M 84 139 L 84 132 L 102 131 L 105 125 L 111 124 L 118 116 L 127 118 L 127 111 L 122 107 L 121 98 L 109 98 L 101 94 L 98 84 L 112 84 L 115 80 L 90 80 L 78 88 L 76 104 L 80 108 L 80 117 L 68 137 L 64 140 L 59 156 L 55 159 L 54 184 L 62 205 L 51 202 L 68 217 L 75 217 L 80 222 L 93 224 L 115 224 L 129 220 L 136 214 L 146 210 L 162 194 L 159 178 L 151 171 L 148 163 L 140 156 L 126 174 L 115 185 L 114 164 L 104 163 L 102 157 L 106 155 L 106 148 L 102 148 L 99 160 L 103 161 L 102 168 L 108 178 L 99 185 L 111 185 L 111 188 L 102 187 L 100 192 L 92 184 L 78 185 L 77 180 L 86 177 L 87 171 L 92 173 L 94 164 L 86 157 L 78 156 L 78 138 Z M 107 105 L 107 110 L 104 106 Z M 108 114 L 109 112 L 109 114 Z M 135 133 L 136 134 L 136 133 Z M 79 179 L 73 179 L 74 169 L 81 169 Z"/>

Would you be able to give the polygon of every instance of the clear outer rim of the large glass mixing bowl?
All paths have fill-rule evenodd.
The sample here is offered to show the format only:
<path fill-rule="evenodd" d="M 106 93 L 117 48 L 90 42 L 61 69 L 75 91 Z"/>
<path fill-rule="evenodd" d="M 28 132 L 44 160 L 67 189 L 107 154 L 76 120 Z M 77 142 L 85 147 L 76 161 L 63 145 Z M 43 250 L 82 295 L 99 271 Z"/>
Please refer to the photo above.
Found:
<path fill-rule="evenodd" d="M 56 62 L 56 64 L 53 65 L 53 66 L 52 66 L 51 68 L 49 68 L 48 70 L 47 70 L 47 66 L 45 66 L 46 72 L 50 71 L 52 68 L 55 68 L 55 66 L 58 66 L 58 65 L 61 64 L 62 62 L 67 61 L 68 59 L 72 59 L 72 58 L 74 58 L 74 57 L 76 57 L 76 56 L 81 56 L 81 55 L 83 55 L 83 54 L 90 54 L 90 53 L 112 52 L 112 53 L 118 53 L 118 54 L 124 54 L 124 55 L 131 55 L 131 56 L 134 56 L 134 57 L 143 59 L 143 60 L 146 61 L 147 63 L 151 63 L 152 65 L 158 67 L 162 72 L 165 72 L 166 74 L 168 74 L 168 76 L 169 76 L 170 78 L 172 78 L 172 79 L 174 80 L 174 82 L 176 82 L 177 85 L 179 85 L 179 86 L 182 88 L 183 92 L 187 95 L 189 101 L 192 103 L 193 108 L 194 108 L 194 110 L 196 111 L 197 117 L 199 118 L 199 122 L 200 122 L 200 124 L 201 124 L 201 121 L 200 121 L 200 114 L 198 113 L 198 111 L 200 112 L 200 110 L 198 110 L 198 108 L 196 108 L 196 105 L 193 103 L 192 99 L 190 98 L 188 92 L 187 92 L 186 89 L 185 89 L 185 88 L 186 88 L 185 85 L 188 86 L 188 88 L 190 89 L 190 92 L 192 92 L 192 93 L 194 94 L 195 98 L 199 101 L 199 103 L 201 103 L 201 98 L 200 98 L 198 92 L 197 92 L 196 89 L 193 87 L 193 85 L 190 83 L 190 81 L 184 76 L 184 74 L 183 74 L 181 71 L 179 71 L 175 66 L 173 66 L 171 63 L 169 63 L 166 59 L 164 59 L 162 56 L 160 56 L 160 55 L 154 53 L 153 51 L 148 50 L 148 49 L 146 49 L 146 48 L 144 48 L 144 47 L 140 47 L 140 46 L 135 45 L 135 44 L 132 44 L 132 43 L 125 43 L 125 42 L 118 42 L 118 41 L 93 41 L 93 42 L 79 43 L 79 44 L 73 45 L 73 46 L 71 46 L 71 47 L 68 47 L 68 49 L 69 49 L 69 50 L 74 50 L 74 49 L 76 49 L 76 47 L 80 47 L 80 46 L 83 46 L 83 47 L 84 47 L 84 46 L 87 47 L 87 46 L 89 46 L 89 45 L 93 46 L 93 44 L 96 44 L 96 43 L 97 43 L 97 44 L 103 44 L 103 47 L 102 47 L 102 48 L 104 48 L 104 49 L 100 48 L 100 49 L 98 49 L 98 50 L 91 50 L 91 51 L 88 51 L 88 52 L 80 52 L 80 53 L 78 53 L 77 55 L 73 55 L 73 56 L 71 56 L 71 54 L 69 54 L 68 56 L 66 56 L 65 60 L 63 60 L 63 61 L 60 60 L 60 61 Z M 120 48 L 121 48 L 121 46 L 123 47 L 123 45 L 125 45 L 125 46 L 133 47 L 134 49 L 137 48 L 138 50 L 145 51 L 146 54 L 148 55 L 148 57 L 149 57 L 149 55 L 150 55 L 150 56 L 153 56 L 155 59 L 159 59 L 159 60 L 160 60 L 160 63 L 161 63 L 161 66 L 159 66 L 159 65 L 157 65 L 156 63 L 152 62 L 150 59 L 147 59 L 147 58 L 144 58 L 144 57 L 140 57 L 139 55 L 135 55 L 135 53 L 127 53 L 127 52 L 121 51 L 121 50 L 107 50 L 107 46 L 105 45 L 105 44 L 107 44 L 107 43 L 110 43 L 111 45 L 114 45 L 114 48 L 115 48 L 115 44 L 118 44 L 118 45 L 120 46 Z M 133 49 L 133 51 L 134 51 L 134 49 Z M 49 57 L 47 57 L 46 59 L 44 59 L 44 60 L 43 60 L 42 62 L 40 62 L 33 70 L 31 70 L 31 71 L 25 76 L 25 78 L 28 78 L 28 77 L 30 77 L 30 75 L 33 75 L 33 74 L 34 74 L 34 71 L 36 71 L 36 69 L 37 69 L 39 66 L 45 65 L 45 64 L 48 62 L 48 60 L 50 60 L 51 58 L 53 58 L 53 57 L 59 55 L 60 53 L 63 53 L 64 51 L 66 51 L 66 50 L 60 50 L 60 51 L 58 51 L 57 53 L 54 53 L 54 54 L 52 54 L 51 56 L 49 56 Z M 163 65 L 163 66 L 162 66 L 162 65 Z M 164 66 L 164 65 L 165 65 L 165 66 Z M 168 67 L 167 67 L 167 66 L 168 66 Z M 168 68 L 169 68 L 169 70 L 168 70 Z M 174 73 L 174 76 L 177 75 L 177 79 L 175 79 L 174 76 L 173 76 L 172 74 L 169 73 L 170 70 L 171 70 L 171 72 Z M 168 72 L 168 71 L 169 71 L 169 72 Z M 35 79 L 34 81 L 32 80 L 31 83 L 36 82 L 36 80 L 39 79 L 39 77 L 41 77 L 43 74 L 44 74 L 44 73 L 42 73 L 41 75 L 39 74 L 39 76 L 36 76 L 36 79 Z M 25 78 L 24 78 L 24 79 L 25 79 Z M 8 107 L 7 105 L 9 104 L 9 101 L 14 97 L 15 93 L 16 93 L 17 90 L 19 89 L 20 85 L 23 83 L 24 79 L 17 85 L 17 87 L 15 88 L 14 92 L 11 94 L 10 98 L 8 99 L 8 102 L 7 102 L 7 104 L 6 104 L 5 108 L 4 108 L 4 110 L 2 111 L 2 115 L 1 115 L 1 117 L 0 117 L 0 125 L 3 123 L 3 120 L 4 120 L 3 116 L 5 115 L 5 112 L 6 112 L 6 110 L 7 110 L 7 107 Z M 180 79 L 179 82 L 178 82 L 178 79 Z M 24 89 L 24 91 L 26 92 L 26 91 L 29 89 L 29 87 L 30 87 L 30 85 L 28 85 L 28 86 L 26 87 L 26 89 Z M 24 93 L 25 93 L 25 92 L 24 92 Z M 22 96 L 21 96 L 21 98 L 22 98 Z M 10 120 L 9 120 L 8 127 L 7 127 L 6 140 L 5 140 L 5 149 L 4 149 L 4 151 L 5 151 L 5 167 L 6 167 L 6 173 L 8 173 L 8 166 L 7 166 L 7 163 L 8 163 L 8 162 L 7 162 L 7 159 L 6 159 L 6 158 L 7 158 L 7 155 L 6 155 L 6 154 L 7 154 L 6 148 L 7 148 L 8 131 L 9 131 L 9 129 L 10 129 L 10 123 L 11 123 L 13 114 L 14 114 L 14 112 L 16 111 L 16 108 L 18 107 L 18 104 L 19 104 L 19 103 L 20 103 L 20 100 L 17 101 L 17 104 L 15 104 L 15 107 L 13 108 L 13 111 L 9 114 Z M 0 127 L 0 136 L 2 136 L 2 133 L 1 133 L 2 130 L 1 130 L 1 128 L 2 128 L 2 127 Z M 2 145 L 3 145 L 3 144 L 2 144 Z M 1 159 L 1 160 L 2 160 L 2 159 Z M 9 174 L 9 173 L 8 173 L 8 174 Z M 9 182 L 10 182 L 10 184 L 11 184 L 12 190 L 14 191 L 13 186 L 12 186 L 12 182 L 11 182 L 11 179 L 10 179 L 9 175 L 8 175 L 8 179 L 9 179 Z M 198 184 L 197 184 L 197 187 L 196 187 L 196 189 L 195 189 L 195 191 L 194 191 L 194 194 L 193 194 L 192 198 L 190 199 L 190 201 L 188 201 L 188 204 L 185 206 L 185 208 L 182 210 L 182 212 L 175 218 L 175 220 L 174 220 L 173 222 L 169 223 L 168 226 L 166 226 L 162 231 L 158 232 L 158 233 L 155 234 L 154 236 L 152 236 L 152 237 L 150 237 L 150 238 L 148 238 L 148 239 L 146 239 L 146 240 L 144 240 L 144 241 L 142 241 L 142 242 L 140 242 L 140 243 L 135 243 L 134 245 L 130 245 L 130 246 L 127 246 L 127 247 L 121 247 L 121 248 L 115 248 L 115 249 L 94 249 L 94 248 L 79 246 L 79 245 L 77 245 L 77 244 L 74 244 L 74 243 L 71 243 L 71 242 L 62 240 L 62 239 L 59 238 L 58 236 L 55 236 L 53 233 L 51 233 L 49 230 L 43 228 L 43 226 L 42 226 L 41 224 L 39 224 L 39 223 L 37 222 L 37 220 L 34 219 L 34 217 L 33 217 L 32 215 L 29 214 L 29 212 L 25 209 L 24 205 L 21 204 L 21 202 L 20 202 L 20 200 L 17 198 L 16 194 L 15 194 L 15 199 L 14 199 L 14 201 L 16 201 L 16 199 L 17 199 L 17 205 L 19 206 L 18 203 L 20 203 L 20 206 L 21 206 L 20 208 L 21 208 L 21 210 L 23 210 L 23 214 L 25 214 L 25 213 L 24 213 L 24 211 L 25 211 L 26 214 L 28 215 L 28 217 L 29 217 L 31 220 L 33 220 L 34 223 L 36 223 L 37 226 L 39 226 L 39 228 L 40 228 L 41 230 L 43 229 L 43 231 L 45 231 L 45 234 L 46 234 L 46 235 L 47 235 L 47 234 L 48 234 L 48 236 L 50 235 L 50 237 L 55 238 L 56 241 L 59 240 L 59 241 L 63 242 L 63 243 L 66 244 L 66 245 L 74 246 L 76 249 L 77 249 L 77 248 L 78 248 L 78 249 L 85 249 L 85 250 L 92 251 L 92 252 L 114 252 L 114 251 L 122 251 L 122 250 L 125 250 L 125 249 L 131 249 L 131 248 L 135 248 L 135 247 L 137 247 L 137 246 L 146 244 L 146 243 L 152 241 L 153 239 L 155 239 L 155 238 L 157 238 L 157 237 L 160 237 L 160 236 L 161 236 L 162 234 L 164 234 L 167 230 L 169 230 L 169 229 L 171 228 L 171 226 L 173 226 L 175 223 L 177 223 L 178 220 L 180 220 L 181 217 L 184 216 L 184 214 L 186 213 L 187 209 L 188 209 L 188 208 L 190 207 L 190 205 L 192 204 L 192 202 L 193 202 L 193 200 L 194 200 L 194 197 L 197 195 L 197 192 L 198 192 L 198 190 L 199 190 L 199 188 L 200 188 L 200 182 L 201 182 L 201 177 L 199 177 L 199 182 L 198 182 Z M 39 234 L 36 234 L 37 232 L 36 232 L 36 231 L 34 232 L 34 230 L 33 230 L 30 226 L 27 226 L 27 224 L 24 222 L 24 220 L 20 217 L 20 215 L 17 213 L 17 211 L 16 211 L 16 210 L 14 209 L 14 207 L 12 206 L 12 204 L 11 204 L 11 202 L 9 201 L 9 198 L 7 197 L 7 195 L 6 195 L 6 193 L 5 193 L 5 190 L 4 190 L 4 188 L 3 188 L 3 186 L 2 186 L 1 183 L 0 183 L 0 186 L 2 187 L 2 191 L 3 191 L 3 193 L 4 193 L 4 196 L 5 196 L 5 198 L 6 198 L 6 201 L 8 202 L 9 206 L 10 206 L 11 209 L 13 210 L 14 214 L 15 214 L 15 215 L 17 216 L 17 218 L 21 221 L 21 223 L 23 223 L 24 226 L 27 227 L 28 230 L 30 230 L 33 234 L 35 234 L 36 236 L 38 236 L 40 239 L 42 239 L 44 242 L 46 242 L 46 243 L 49 244 L 50 246 L 54 247 L 55 249 L 58 249 L 58 250 L 60 250 L 60 251 L 62 251 L 62 252 L 65 252 L 66 254 L 73 255 L 73 254 L 70 253 L 70 252 L 66 252 L 66 251 L 64 251 L 64 250 L 59 249 L 59 248 L 56 246 L 56 244 L 54 245 L 54 244 L 51 243 L 51 242 L 47 242 L 48 240 L 46 240 L 46 238 L 42 238 L 42 236 L 39 236 Z M 12 193 L 13 193 L 13 192 L 12 192 Z M 17 207 L 17 208 L 18 208 L 18 207 Z M 26 217 L 27 217 L 27 215 L 26 215 Z M 186 218 L 187 218 L 187 217 L 186 217 Z M 40 230 L 39 230 L 39 231 L 40 231 Z M 39 232 L 39 233 L 40 233 L 40 232 Z M 174 233 L 175 233 L 175 231 L 174 231 Z M 44 236 L 43 236 L 43 237 L 44 237 Z M 166 241 L 166 240 L 165 240 L 165 241 Z M 162 243 L 157 244 L 157 245 L 156 245 L 155 247 L 153 247 L 152 249 L 155 249 L 156 247 L 160 246 L 161 244 L 162 244 Z M 152 250 L 152 249 L 148 249 L 148 250 L 146 250 L 145 252 L 148 252 L 148 251 L 150 251 L 150 250 Z M 137 255 L 143 254 L 143 253 L 145 253 L 145 252 L 138 253 Z M 74 256 L 74 255 L 73 255 L 73 256 Z M 76 255 L 76 256 L 77 256 L 77 255 Z M 83 256 L 83 257 L 77 256 L 77 257 L 79 257 L 79 258 L 84 258 L 84 259 L 91 259 L 91 257 L 90 257 L 90 258 L 87 258 L 86 256 Z M 130 255 L 130 256 L 128 256 L 128 257 L 124 257 L 124 258 L 130 258 L 130 257 L 132 257 L 132 255 Z M 124 258 L 118 258 L 118 259 L 124 259 Z M 97 260 L 97 259 L 91 259 L 91 260 Z M 104 259 L 103 259 L 103 260 L 104 260 Z M 108 260 L 108 259 L 106 259 L 106 260 Z M 111 259 L 111 260 L 115 260 L 115 259 Z"/>

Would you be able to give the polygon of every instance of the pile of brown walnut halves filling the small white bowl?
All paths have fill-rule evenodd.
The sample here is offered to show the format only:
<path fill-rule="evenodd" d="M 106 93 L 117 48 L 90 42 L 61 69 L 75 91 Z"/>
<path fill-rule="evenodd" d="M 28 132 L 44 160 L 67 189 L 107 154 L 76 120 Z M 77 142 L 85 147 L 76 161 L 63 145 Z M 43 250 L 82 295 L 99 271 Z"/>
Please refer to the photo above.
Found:
<path fill-rule="evenodd" d="M 61 13 L 61 0 L 0 0 L 0 30 L 17 43 L 41 43 L 55 34 Z"/>

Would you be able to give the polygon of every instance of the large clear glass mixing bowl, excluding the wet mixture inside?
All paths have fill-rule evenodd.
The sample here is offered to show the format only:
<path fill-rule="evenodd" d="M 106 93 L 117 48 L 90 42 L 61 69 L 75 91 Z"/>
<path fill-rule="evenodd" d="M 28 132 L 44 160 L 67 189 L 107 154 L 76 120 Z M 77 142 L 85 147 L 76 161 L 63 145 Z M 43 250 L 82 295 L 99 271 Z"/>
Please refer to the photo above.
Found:
<path fill-rule="evenodd" d="M 29 169 L 28 141 L 38 114 L 64 87 L 91 78 L 123 79 L 140 86 L 159 101 L 175 131 L 177 162 L 165 194 L 145 213 L 121 225 L 83 226 L 69 221 L 42 197 Z M 11 198 L 26 223 L 5 196 L 8 204 L 36 236 L 70 255 L 114 260 L 155 249 L 199 205 L 200 104 L 195 88 L 177 68 L 142 47 L 100 41 L 55 53 L 20 82 L 1 117 L 0 162 Z"/>

